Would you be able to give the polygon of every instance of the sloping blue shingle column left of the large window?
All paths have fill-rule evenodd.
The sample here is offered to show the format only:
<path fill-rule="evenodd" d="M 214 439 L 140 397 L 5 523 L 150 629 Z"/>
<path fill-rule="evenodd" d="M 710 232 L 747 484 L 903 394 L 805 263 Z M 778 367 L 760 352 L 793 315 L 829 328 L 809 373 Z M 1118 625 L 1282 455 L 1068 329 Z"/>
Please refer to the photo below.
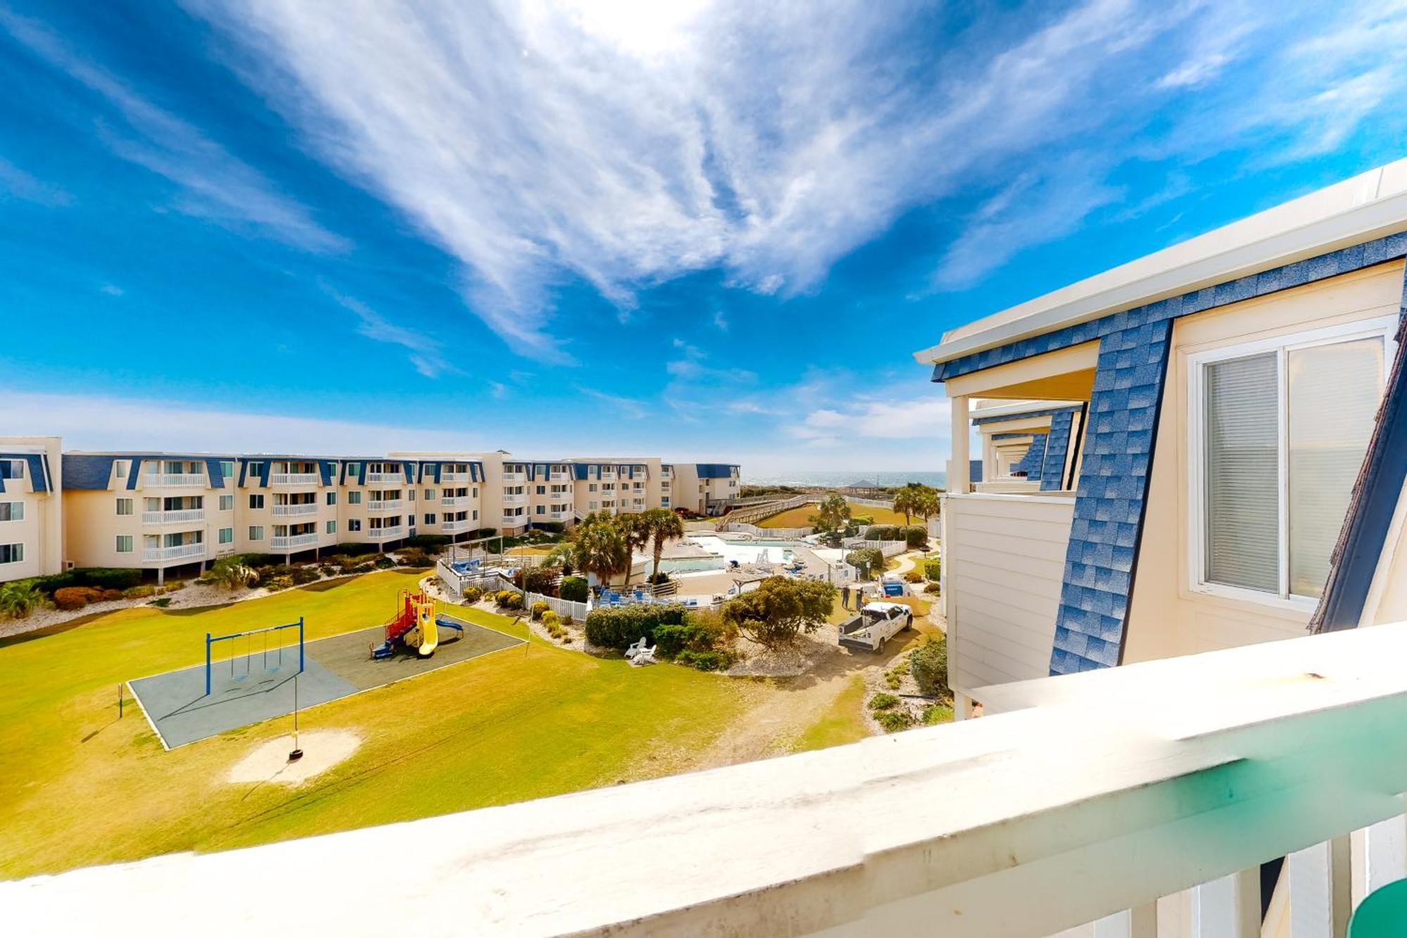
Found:
<path fill-rule="evenodd" d="M 1172 320 L 1161 320 L 1099 342 L 1052 675 L 1112 668 L 1123 654 L 1171 339 Z"/>

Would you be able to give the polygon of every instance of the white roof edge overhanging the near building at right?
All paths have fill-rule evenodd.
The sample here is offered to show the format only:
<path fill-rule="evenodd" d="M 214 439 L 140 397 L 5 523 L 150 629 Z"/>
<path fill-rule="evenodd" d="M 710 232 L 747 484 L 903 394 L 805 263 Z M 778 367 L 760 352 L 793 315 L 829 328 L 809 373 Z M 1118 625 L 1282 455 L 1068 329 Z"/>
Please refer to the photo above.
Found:
<path fill-rule="evenodd" d="M 913 358 L 948 362 L 1401 231 L 1407 159 L 950 330 Z"/>

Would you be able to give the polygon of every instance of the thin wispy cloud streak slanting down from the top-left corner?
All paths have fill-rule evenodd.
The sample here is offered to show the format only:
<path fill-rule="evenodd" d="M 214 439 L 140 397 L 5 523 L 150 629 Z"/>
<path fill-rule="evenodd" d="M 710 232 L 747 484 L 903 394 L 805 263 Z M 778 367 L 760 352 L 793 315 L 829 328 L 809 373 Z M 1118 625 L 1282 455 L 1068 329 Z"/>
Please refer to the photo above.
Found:
<path fill-rule="evenodd" d="M 349 246 L 345 238 L 314 221 L 307 207 L 280 193 L 256 169 L 70 51 L 41 24 L 0 8 L 0 30 L 111 106 L 121 124 L 98 123 L 97 134 L 117 156 L 176 183 L 182 197 L 173 207 L 179 211 L 248 227 L 312 251 Z M 0 182 L 3 175 L 0 168 Z"/>

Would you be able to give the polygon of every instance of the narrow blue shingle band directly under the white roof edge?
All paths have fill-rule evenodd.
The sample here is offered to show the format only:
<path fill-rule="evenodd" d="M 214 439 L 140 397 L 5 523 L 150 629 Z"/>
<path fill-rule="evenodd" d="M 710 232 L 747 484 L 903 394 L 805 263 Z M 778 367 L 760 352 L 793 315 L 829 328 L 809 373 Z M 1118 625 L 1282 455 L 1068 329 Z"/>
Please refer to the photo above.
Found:
<path fill-rule="evenodd" d="M 1092 342 L 1093 339 L 1102 339 L 1113 332 L 1145 323 L 1158 323 L 1192 313 L 1204 313 L 1206 310 L 1228 303 L 1278 293 L 1279 290 L 1304 286 L 1306 283 L 1349 273 L 1375 263 L 1383 263 L 1384 261 L 1394 261 L 1403 255 L 1407 255 L 1407 232 L 1387 235 L 1386 238 L 1344 248 L 1317 258 L 1296 261 L 1294 263 L 1252 273 L 1217 286 L 1203 287 L 1166 300 L 1158 300 L 1157 303 L 1148 303 L 1147 306 L 1137 306 L 1123 313 L 1090 320 L 1089 323 L 1078 323 L 1009 345 L 999 345 L 998 348 L 964 355 L 951 362 L 941 362 L 933 366 L 933 380 L 944 382 L 950 377 L 971 375 L 972 372 L 981 372 L 996 365 L 1006 365 L 1007 362 L 1044 355 L 1045 352 L 1069 348 L 1071 345 Z"/>

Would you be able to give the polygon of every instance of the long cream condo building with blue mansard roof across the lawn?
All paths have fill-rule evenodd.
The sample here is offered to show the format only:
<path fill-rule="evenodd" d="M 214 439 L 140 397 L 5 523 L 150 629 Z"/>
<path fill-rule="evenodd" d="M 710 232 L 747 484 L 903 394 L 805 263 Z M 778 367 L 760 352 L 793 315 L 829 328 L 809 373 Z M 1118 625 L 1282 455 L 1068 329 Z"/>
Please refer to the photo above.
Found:
<path fill-rule="evenodd" d="M 0 438 L 0 582 L 66 568 L 203 566 L 231 554 L 315 555 L 416 535 L 568 527 L 592 511 L 716 514 L 739 468 L 511 454 L 386 456 L 61 452 Z"/>

